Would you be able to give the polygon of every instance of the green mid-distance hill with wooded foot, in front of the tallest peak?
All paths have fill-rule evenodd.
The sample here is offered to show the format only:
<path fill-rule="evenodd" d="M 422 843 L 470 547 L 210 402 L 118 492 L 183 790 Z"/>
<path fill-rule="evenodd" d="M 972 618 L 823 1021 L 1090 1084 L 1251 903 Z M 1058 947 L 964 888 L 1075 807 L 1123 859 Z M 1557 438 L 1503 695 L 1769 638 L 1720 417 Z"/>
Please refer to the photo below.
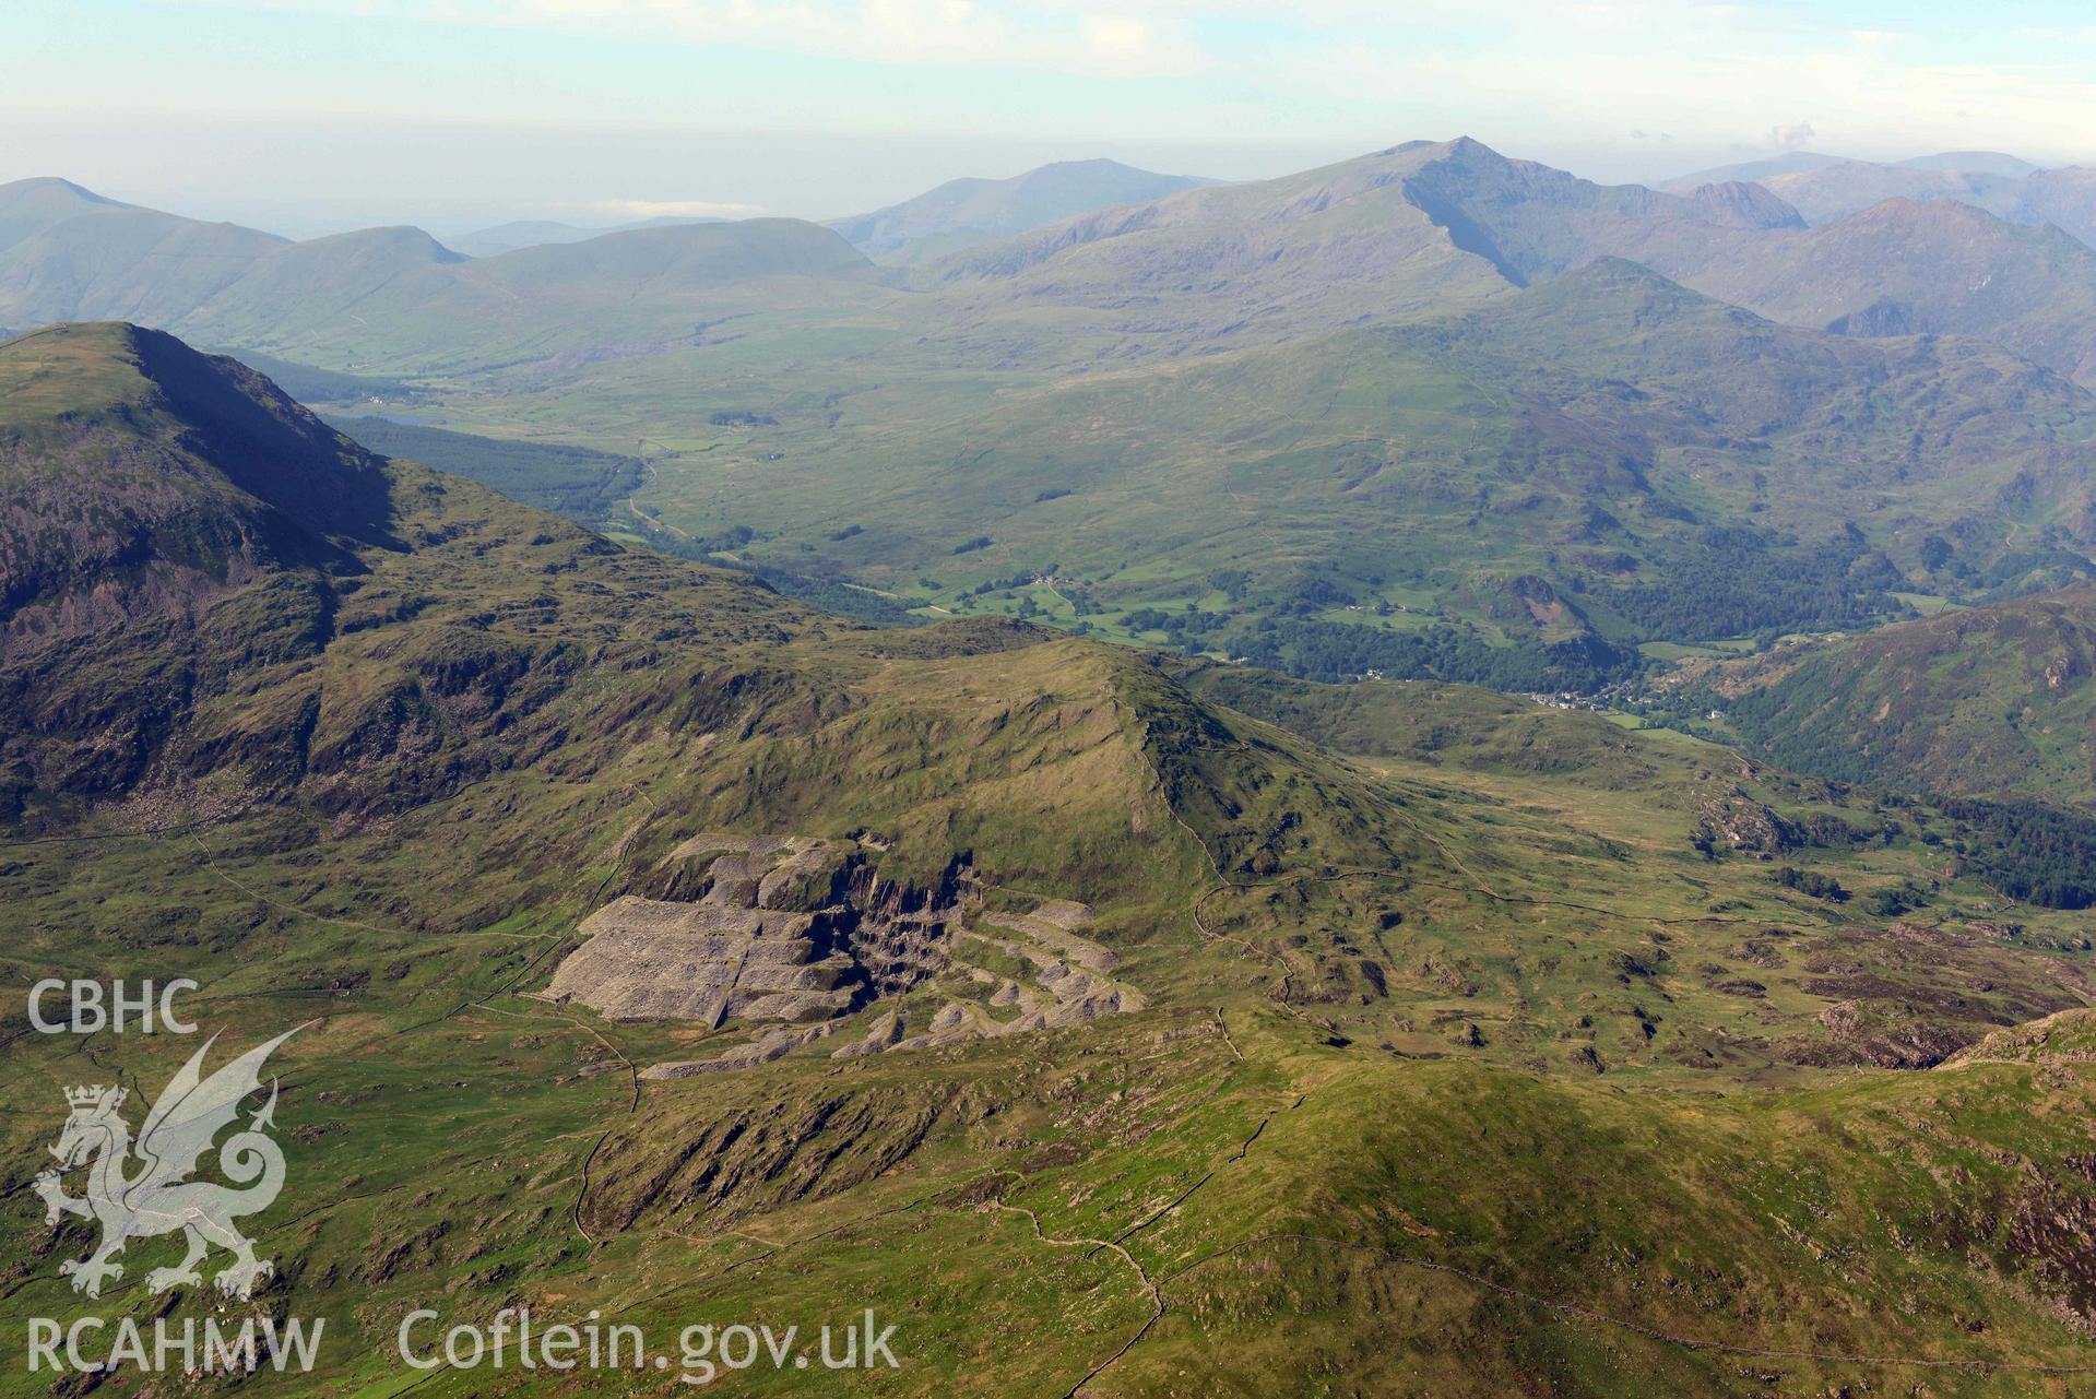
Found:
<path fill-rule="evenodd" d="M 729 402 L 746 364 L 696 354 L 648 383 Z M 1853 626 L 1899 616 L 1895 593 L 2086 568 L 2083 390 L 1968 341 L 1771 325 L 1624 262 L 994 396 L 734 385 L 759 421 L 654 459 L 650 532 L 1316 676 L 1585 689 L 1643 641 Z"/>

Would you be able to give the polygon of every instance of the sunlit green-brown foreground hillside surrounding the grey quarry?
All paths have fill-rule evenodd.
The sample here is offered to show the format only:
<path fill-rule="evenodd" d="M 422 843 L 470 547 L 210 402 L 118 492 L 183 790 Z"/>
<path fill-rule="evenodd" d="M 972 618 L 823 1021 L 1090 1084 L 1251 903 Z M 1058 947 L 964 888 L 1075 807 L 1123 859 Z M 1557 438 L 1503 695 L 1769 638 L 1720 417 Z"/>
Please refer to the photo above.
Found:
<path fill-rule="evenodd" d="M 197 976 L 243 1045 L 312 1022 L 256 1305 L 331 1342 L 256 1393 L 392 1393 L 400 1313 L 520 1301 L 662 1347 L 874 1307 L 903 1368 L 870 1384 L 924 1395 L 2014 1395 L 2086 1363 L 2088 940 L 1947 859 L 1935 804 L 1480 691 L 853 628 L 128 327 L 8 343 L 0 383 L 34 735 L 6 1160 L 88 1072 L 19 1032 L 40 976 Z M 124 626 L 61 630 L 90 605 Z M 897 919 L 836 1020 L 780 1047 L 543 997 L 589 915 L 721 907 L 708 852 L 788 836 L 834 880 L 767 909 Z M 1075 968 L 1115 1003 L 926 1028 Z M 189 1045 L 86 1049 L 157 1085 Z M 86 1231 L 13 1171 L 0 1313 L 78 1315 Z M 136 1278 L 96 1307 L 241 1311 Z"/>

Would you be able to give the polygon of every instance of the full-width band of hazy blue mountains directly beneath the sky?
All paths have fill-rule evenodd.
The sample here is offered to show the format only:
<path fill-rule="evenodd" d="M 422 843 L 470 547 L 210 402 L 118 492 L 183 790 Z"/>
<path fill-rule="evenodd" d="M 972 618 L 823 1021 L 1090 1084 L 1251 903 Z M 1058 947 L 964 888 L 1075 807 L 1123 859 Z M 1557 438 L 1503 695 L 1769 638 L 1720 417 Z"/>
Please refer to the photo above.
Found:
<path fill-rule="evenodd" d="M 1985 170 L 1953 170 L 1960 161 Z M 25 180 L 0 186 L 0 323 L 134 316 L 323 369 L 465 367 L 660 343 L 763 308 L 885 304 L 968 356 L 1067 364 L 1274 341 L 1626 258 L 1790 325 L 1970 333 L 2058 373 L 2096 373 L 2096 249 L 1979 203 L 1916 197 L 1943 180 L 2046 178 L 2065 199 L 2077 172 L 1991 174 L 2016 168 L 1991 155 L 1780 163 L 1761 182 L 1664 193 L 1593 184 L 1473 140 L 1409 142 L 1245 184 L 1075 161 L 954 182 L 828 230 L 801 220 L 593 237 L 507 226 L 480 247 L 539 232 L 558 241 L 470 264 L 413 228 L 285 243 Z M 1715 174 L 1756 170 L 1767 165 Z M 1780 195 L 1786 182 L 1859 170 L 1905 193 L 1832 222 Z M 903 285 L 931 297 L 880 291 L 868 256 L 905 264 Z M 807 285 L 773 285 L 769 299 L 729 291 L 780 276 Z M 1058 312 L 1052 333 L 1044 306 Z"/>

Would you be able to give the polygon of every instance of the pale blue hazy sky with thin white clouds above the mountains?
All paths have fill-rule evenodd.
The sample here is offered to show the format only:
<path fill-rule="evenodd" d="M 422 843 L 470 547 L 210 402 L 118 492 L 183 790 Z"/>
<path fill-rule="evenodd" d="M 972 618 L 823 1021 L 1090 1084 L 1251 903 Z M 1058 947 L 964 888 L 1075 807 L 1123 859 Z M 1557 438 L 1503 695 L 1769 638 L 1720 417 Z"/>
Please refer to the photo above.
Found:
<path fill-rule="evenodd" d="M 1109 155 L 1459 134 L 1597 180 L 1788 149 L 2096 163 L 2079 0 L 4 0 L 0 182 L 312 237 L 836 218 Z"/>

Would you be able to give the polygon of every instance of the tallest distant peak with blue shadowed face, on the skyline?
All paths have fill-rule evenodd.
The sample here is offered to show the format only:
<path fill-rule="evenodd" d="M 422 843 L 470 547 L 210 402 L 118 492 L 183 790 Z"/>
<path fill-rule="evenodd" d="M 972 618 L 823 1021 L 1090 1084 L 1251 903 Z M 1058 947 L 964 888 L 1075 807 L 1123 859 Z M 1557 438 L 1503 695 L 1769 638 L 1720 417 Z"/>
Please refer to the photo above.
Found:
<path fill-rule="evenodd" d="M 1069 323 L 1038 333 L 1038 310 L 1056 306 L 1111 335 L 1113 354 L 1155 356 L 1503 295 L 1603 256 L 1679 274 L 1786 230 L 1803 230 L 1796 212 L 1746 184 L 1677 197 L 1469 138 L 1415 140 L 1102 209 L 924 272 L 960 323 L 1012 325 L 1010 354 L 1092 352 Z"/>

